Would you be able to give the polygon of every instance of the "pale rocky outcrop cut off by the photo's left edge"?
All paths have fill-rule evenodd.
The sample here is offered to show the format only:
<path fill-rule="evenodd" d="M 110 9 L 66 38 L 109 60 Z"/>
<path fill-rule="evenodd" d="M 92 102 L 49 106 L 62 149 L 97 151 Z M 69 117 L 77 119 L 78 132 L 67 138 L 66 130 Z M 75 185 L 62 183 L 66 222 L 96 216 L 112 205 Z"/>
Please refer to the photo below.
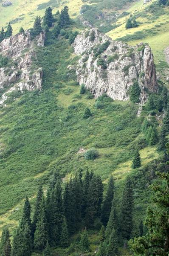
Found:
<path fill-rule="evenodd" d="M 8 65 L 0 68 L 0 88 L 6 93 L 14 90 L 42 89 L 42 67 L 38 67 L 37 55 L 34 50 L 37 46 L 44 46 L 45 33 L 41 33 L 33 41 L 29 31 L 11 36 L 0 43 L 0 54 L 7 57 Z M 0 104 L 8 98 L 2 95 Z"/>

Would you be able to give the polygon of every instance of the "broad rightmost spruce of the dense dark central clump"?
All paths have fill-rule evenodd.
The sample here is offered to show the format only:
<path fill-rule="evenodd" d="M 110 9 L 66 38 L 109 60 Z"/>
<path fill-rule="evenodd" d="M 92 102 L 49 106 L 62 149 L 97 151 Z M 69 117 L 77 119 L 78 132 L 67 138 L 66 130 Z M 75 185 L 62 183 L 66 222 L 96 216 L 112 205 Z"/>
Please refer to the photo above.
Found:
<path fill-rule="evenodd" d="M 101 203 L 103 197 L 103 183 L 100 176 L 93 175 L 90 180 L 85 223 L 88 228 L 94 226 L 94 222 L 101 214 Z"/>

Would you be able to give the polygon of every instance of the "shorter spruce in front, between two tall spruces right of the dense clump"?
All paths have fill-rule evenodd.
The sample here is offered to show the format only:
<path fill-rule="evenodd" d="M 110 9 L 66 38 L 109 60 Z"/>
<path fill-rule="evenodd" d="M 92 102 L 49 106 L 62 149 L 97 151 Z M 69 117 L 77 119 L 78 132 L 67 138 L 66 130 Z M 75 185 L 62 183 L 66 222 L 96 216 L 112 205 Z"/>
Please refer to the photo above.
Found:
<path fill-rule="evenodd" d="M 105 238 L 106 238 L 107 244 L 109 243 L 110 235 L 111 235 L 113 229 L 117 233 L 118 224 L 117 224 L 117 213 L 116 213 L 115 201 L 114 200 L 112 202 L 110 217 L 109 217 L 109 221 L 107 223 L 107 227 L 106 227 L 106 231 L 105 231 Z"/>

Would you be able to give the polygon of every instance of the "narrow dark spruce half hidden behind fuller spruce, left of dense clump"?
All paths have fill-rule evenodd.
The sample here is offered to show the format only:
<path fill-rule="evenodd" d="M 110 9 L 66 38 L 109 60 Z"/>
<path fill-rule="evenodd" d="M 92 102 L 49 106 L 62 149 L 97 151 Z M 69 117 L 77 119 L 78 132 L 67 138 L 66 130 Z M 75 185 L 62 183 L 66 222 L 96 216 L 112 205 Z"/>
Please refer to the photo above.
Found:
<path fill-rule="evenodd" d="M 43 189 L 42 189 L 42 185 L 40 185 L 38 192 L 37 192 L 35 211 L 34 211 L 34 216 L 33 216 L 33 221 L 32 221 L 32 236 L 33 236 L 33 238 L 34 238 L 34 233 L 35 233 L 35 230 L 37 227 L 37 221 L 38 221 L 38 216 L 40 213 L 40 204 L 42 201 L 42 196 L 43 196 Z"/>

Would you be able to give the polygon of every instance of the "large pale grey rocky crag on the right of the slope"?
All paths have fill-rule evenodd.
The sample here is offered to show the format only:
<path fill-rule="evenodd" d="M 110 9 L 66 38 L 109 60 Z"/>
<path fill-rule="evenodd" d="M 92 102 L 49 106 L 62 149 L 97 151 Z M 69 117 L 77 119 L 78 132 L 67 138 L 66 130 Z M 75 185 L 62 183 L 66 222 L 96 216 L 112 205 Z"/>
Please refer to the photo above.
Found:
<path fill-rule="evenodd" d="M 90 41 L 93 32 L 95 39 Z M 110 45 L 96 56 L 96 48 L 106 41 Z M 146 100 L 144 87 L 151 92 L 158 92 L 153 54 L 148 45 L 141 43 L 131 47 L 111 40 L 94 28 L 90 29 L 87 37 L 86 31 L 78 35 L 73 47 L 75 54 L 82 54 L 76 70 L 78 81 L 80 84 L 85 83 L 96 98 L 107 93 L 113 99 L 128 100 L 129 90 L 135 79 L 138 79 L 141 88 L 141 104 Z M 104 65 L 99 60 L 104 61 Z"/>

